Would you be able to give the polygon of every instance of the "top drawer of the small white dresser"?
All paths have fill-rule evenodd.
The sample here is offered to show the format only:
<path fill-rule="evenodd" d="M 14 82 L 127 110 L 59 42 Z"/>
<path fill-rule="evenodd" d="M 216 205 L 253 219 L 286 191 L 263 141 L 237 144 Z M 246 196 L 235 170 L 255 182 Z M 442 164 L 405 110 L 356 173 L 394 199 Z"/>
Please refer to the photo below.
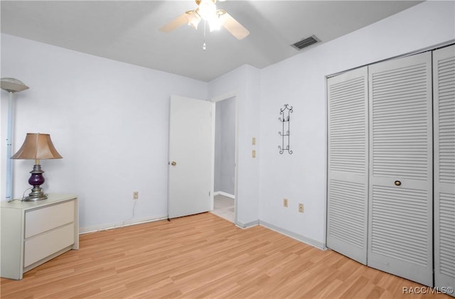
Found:
<path fill-rule="evenodd" d="M 50 205 L 45 208 L 30 210 L 26 212 L 25 236 L 27 239 L 36 234 L 47 232 L 55 227 L 74 222 L 75 201 L 70 200 L 58 205 Z"/>

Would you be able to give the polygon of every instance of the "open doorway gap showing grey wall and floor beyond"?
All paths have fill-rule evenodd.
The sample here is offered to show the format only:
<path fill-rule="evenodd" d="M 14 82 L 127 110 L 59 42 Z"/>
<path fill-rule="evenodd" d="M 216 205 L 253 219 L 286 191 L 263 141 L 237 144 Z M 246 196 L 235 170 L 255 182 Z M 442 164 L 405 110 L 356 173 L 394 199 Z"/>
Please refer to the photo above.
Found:
<path fill-rule="evenodd" d="M 237 100 L 215 102 L 213 214 L 235 223 Z"/>

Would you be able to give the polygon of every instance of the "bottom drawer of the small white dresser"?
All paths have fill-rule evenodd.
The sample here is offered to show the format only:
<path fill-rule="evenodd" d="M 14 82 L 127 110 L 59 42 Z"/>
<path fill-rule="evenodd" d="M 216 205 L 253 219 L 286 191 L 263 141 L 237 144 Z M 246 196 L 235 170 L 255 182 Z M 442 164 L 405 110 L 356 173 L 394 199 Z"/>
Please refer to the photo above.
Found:
<path fill-rule="evenodd" d="M 23 267 L 30 266 L 72 244 L 74 244 L 73 223 L 27 239 L 23 246 Z"/>

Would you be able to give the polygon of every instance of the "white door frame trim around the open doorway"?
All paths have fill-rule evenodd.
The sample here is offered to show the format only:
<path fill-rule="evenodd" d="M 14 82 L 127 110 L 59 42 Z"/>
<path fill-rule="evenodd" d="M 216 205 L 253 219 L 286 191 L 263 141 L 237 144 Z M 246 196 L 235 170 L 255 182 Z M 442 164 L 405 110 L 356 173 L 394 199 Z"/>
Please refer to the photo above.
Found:
<path fill-rule="evenodd" d="M 214 104 L 216 102 L 223 101 L 225 99 L 234 99 L 235 102 L 235 166 L 234 166 L 234 224 L 237 224 L 237 190 L 238 190 L 238 152 L 239 152 L 239 106 L 238 106 L 238 101 L 237 101 L 237 95 L 238 92 L 232 91 L 232 92 L 226 92 L 225 94 L 220 94 L 216 97 L 212 97 L 210 99 L 210 102 L 213 102 Z M 215 112 L 216 112 L 216 105 L 215 105 Z M 216 114 L 215 114 L 216 115 Z M 213 135 L 215 135 L 215 126 L 216 126 L 216 121 L 215 121 L 216 116 L 213 118 Z M 215 192 L 215 138 L 213 138 L 213 187 L 212 190 Z M 214 205 L 214 196 L 212 196 L 212 210 L 213 210 L 213 205 Z"/>

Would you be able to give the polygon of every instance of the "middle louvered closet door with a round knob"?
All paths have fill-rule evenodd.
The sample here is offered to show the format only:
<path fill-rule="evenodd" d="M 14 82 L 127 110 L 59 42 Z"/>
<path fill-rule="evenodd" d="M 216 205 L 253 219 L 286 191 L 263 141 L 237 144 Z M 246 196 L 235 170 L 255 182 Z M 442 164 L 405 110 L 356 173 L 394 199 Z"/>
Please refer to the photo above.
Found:
<path fill-rule="evenodd" d="M 433 285 L 432 58 L 371 65 L 368 266 Z"/>

